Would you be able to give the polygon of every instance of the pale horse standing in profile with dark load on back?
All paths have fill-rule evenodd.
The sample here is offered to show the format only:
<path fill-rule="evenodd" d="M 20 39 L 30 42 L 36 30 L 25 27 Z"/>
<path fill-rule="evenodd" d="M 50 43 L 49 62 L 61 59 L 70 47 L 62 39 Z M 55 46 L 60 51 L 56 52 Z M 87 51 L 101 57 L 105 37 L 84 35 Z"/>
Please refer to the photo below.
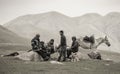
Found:
<path fill-rule="evenodd" d="M 102 43 L 105 43 L 108 47 L 111 46 L 107 36 L 105 36 L 104 38 L 100 37 L 98 39 L 95 39 L 94 43 L 85 42 L 83 38 L 84 37 L 80 37 L 77 39 L 77 41 L 79 42 L 80 47 L 84 49 L 97 49 L 98 46 L 100 46 Z"/>

